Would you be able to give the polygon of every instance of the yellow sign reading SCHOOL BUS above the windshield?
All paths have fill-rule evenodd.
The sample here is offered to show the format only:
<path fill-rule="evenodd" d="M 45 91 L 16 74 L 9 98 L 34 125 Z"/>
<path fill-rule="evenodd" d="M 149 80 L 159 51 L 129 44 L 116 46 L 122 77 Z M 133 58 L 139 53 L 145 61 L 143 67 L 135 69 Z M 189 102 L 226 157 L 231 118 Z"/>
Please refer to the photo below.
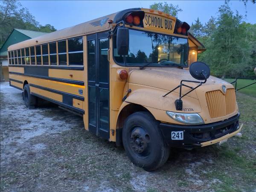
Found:
<path fill-rule="evenodd" d="M 159 15 L 153 15 L 145 13 L 143 20 L 144 27 L 148 29 L 159 30 L 161 32 L 173 33 L 175 27 L 175 17 L 162 17 Z"/>

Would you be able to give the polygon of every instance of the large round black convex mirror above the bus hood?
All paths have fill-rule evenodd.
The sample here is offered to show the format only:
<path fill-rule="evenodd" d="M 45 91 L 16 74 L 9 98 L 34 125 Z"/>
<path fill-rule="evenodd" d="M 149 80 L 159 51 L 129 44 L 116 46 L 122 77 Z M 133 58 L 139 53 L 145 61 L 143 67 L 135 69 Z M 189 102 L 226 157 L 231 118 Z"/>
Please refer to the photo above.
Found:
<path fill-rule="evenodd" d="M 195 79 L 205 80 L 210 76 L 210 68 L 207 64 L 196 61 L 190 65 L 189 73 Z"/>

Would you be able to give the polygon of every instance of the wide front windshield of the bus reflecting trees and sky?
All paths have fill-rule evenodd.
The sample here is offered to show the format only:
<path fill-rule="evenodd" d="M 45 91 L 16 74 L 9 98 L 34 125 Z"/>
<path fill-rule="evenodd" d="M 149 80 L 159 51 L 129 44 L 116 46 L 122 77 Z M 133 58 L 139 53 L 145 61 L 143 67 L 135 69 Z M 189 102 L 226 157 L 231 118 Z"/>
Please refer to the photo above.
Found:
<path fill-rule="evenodd" d="M 173 63 L 176 63 L 186 67 L 188 53 L 187 38 L 129 29 L 129 52 L 125 56 L 127 65 L 142 66 L 151 63 L 151 67 L 163 67 L 163 64 L 173 67 Z M 123 57 L 117 54 L 116 36 L 114 58 L 118 63 L 124 61 Z"/>

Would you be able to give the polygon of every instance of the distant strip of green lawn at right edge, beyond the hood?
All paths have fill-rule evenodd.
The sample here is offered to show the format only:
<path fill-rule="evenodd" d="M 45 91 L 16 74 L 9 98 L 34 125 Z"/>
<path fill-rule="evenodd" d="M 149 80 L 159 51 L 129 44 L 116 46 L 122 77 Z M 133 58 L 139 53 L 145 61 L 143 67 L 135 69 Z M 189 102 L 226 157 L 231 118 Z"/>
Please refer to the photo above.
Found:
<path fill-rule="evenodd" d="M 224 79 L 224 80 L 229 83 L 235 81 L 235 79 Z M 247 86 L 248 84 L 251 84 L 253 82 L 256 82 L 256 81 L 250 80 L 250 79 L 238 79 L 236 89 Z M 233 83 L 233 85 L 235 87 L 235 83 Z M 250 85 L 249 87 L 245 87 L 244 89 L 239 90 L 239 92 L 256 97 L 256 84 Z"/>

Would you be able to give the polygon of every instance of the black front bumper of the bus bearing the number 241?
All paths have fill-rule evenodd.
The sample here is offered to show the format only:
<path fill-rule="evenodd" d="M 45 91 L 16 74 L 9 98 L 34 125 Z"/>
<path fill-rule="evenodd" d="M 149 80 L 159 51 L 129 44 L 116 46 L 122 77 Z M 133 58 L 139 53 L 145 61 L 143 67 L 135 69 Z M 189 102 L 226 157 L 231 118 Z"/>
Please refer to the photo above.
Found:
<path fill-rule="evenodd" d="M 239 116 L 206 125 L 172 125 L 160 123 L 165 142 L 171 147 L 195 148 L 218 143 L 241 131 Z M 183 140 L 172 140 L 172 131 L 183 131 Z"/>

